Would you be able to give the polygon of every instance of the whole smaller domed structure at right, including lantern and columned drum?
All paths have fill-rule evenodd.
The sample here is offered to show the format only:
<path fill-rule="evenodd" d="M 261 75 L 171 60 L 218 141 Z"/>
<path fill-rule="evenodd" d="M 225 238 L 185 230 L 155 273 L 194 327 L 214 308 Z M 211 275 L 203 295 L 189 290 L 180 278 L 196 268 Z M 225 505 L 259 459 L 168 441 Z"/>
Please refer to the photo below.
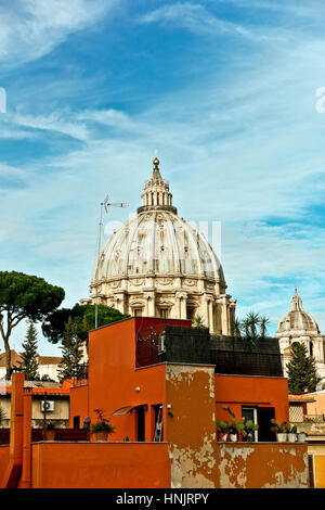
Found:
<path fill-rule="evenodd" d="M 325 384 L 325 357 L 324 341 L 315 320 L 302 307 L 302 301 L 297 289 L 291 299 L 291 309 L 280 321 L 276 337 L 283 355 L 284 374 L 287 375 L 286 366 L 290 360 L 290 349 L 295 342 L 299 342 L 307 347 L 310 356 L 315 358 L 317 374 L 321 381 L 317 390 Z"/>

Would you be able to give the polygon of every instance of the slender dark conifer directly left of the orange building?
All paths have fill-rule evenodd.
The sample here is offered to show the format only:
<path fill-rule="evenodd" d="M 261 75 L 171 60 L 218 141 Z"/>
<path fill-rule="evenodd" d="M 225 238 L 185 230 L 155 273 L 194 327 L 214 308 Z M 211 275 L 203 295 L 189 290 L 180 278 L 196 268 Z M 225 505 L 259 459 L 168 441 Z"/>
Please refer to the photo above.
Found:
<path fill-rule="evenodd" d="M 62 343 L 62 361 L 58 365 L 58 379 L 83 379 L 84 365 L 82 364 L 82 342 L 75 331 L 72 317 L 68 318 Z"/>

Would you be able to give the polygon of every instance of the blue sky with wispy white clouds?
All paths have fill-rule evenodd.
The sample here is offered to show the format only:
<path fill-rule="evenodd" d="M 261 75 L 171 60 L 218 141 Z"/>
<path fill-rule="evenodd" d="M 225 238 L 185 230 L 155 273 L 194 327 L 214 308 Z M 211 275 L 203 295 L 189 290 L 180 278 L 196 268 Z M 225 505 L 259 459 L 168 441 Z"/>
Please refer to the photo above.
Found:
<path fill-rule="evenodd" d="M 88 297 L 100 203 L 129 205 L 107 234 L 157 150 L 179 214 L 221 222 L 238 318 L 274 334 L 297 284 L 325 333 L 324 23 L 323 0 L 1 0 L 1 270 Z"/>

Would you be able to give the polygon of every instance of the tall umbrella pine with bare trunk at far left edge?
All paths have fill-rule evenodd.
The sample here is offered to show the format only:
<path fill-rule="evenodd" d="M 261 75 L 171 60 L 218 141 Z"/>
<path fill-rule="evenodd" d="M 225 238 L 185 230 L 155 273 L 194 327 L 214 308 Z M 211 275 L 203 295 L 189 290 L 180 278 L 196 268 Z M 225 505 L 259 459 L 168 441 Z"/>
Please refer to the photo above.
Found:
<path fill-rule="evenodd" d="M 64 290 L 42 278 L 16 271 L 0 271 L 0 333 L 6 357 L 6 379 L 11 378 L 9 339 L 23 319 L 42 320 L 64 299 Z"/>

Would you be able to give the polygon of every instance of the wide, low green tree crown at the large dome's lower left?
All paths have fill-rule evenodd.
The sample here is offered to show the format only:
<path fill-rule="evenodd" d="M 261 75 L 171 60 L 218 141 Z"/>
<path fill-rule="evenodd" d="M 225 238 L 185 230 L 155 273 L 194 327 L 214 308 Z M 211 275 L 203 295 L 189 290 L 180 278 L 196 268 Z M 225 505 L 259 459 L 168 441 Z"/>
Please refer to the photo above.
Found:
<path fill-rule="evenodd" d="M 65 324 L 69 317 L 74 322 L 74 331 L 80 341 L 87 341 L 88 332 L 95 328 L 95 306 L 94 305 L 79 305 L 78 303 L 73 308 L 61 308 L 52 314 L 49 314 L 42 324 L 42 332 L 44 336 L 57 344 L 64 341 Z M 117 320 L 126 319 L 128 315 L 123 315 L 115 308 L 105 305 L 98 305 L 98 326 L 106 326 Z"/>

